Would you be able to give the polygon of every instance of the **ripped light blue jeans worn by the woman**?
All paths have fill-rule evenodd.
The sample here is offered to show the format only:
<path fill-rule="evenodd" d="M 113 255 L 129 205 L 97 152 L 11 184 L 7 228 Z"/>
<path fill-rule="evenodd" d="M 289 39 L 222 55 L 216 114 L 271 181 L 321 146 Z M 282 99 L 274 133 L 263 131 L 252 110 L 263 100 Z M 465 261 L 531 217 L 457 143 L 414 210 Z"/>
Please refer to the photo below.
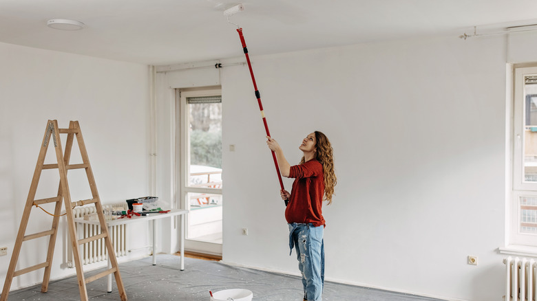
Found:
<path fill-rule="evenodd" d="M 298 269 L 302 273 L 304 299 L 322 301 L 324 287 L 324 226 L 290 223 L 289 248 L 297 252 Z"/>

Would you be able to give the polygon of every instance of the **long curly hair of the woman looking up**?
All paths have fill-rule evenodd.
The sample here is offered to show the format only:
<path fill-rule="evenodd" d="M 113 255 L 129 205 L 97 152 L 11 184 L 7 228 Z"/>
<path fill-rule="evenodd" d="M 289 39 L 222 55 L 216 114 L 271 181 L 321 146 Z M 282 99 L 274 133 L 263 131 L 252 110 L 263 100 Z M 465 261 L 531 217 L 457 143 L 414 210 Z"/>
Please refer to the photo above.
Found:
<path fill-rule="evenodd" d="M 332 203 L 332 196 L 335 194 L 334 186 L 337 184 L 337 177 L 334 170 L 334 150 L 324 133 L 315 131 L 315 141 L 317 142 L 315 144 L 317 148 L 315 159 L 323 166 L 324 200 L 328 201 L 328 205 L 330 205 Z M 305 161 L 304 157 L 302 157 L 300 164 L 304 164 Z"/>

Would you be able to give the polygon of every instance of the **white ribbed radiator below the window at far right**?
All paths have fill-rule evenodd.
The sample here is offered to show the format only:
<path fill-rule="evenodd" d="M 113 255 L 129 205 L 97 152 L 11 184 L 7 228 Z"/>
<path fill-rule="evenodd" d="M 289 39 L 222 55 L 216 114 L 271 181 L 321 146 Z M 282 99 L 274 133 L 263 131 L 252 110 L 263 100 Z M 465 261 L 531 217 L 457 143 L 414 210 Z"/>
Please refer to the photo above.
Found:
<path fill-rule="evenodd" d="M 536 267 L 535 260 L 507 257 L 505 263 L 505 301 L 536 300 Z"/>

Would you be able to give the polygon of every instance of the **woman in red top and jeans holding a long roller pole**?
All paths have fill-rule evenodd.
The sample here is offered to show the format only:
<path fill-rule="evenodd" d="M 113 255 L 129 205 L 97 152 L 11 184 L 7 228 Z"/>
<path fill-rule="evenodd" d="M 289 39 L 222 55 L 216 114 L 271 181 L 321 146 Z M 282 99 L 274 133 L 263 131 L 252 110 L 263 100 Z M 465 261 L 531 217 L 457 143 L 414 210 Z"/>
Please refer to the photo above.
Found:
<path fill-rule="evenodd" d="M 302 273 L 304 301 L 321 301 L 324 286 L 325 227 L 322 202 L 332 203 L 337 179 L 334 172 L 333 149 L 326 135 L 319 131 L 302 140 L 299 149 L 304 153 L 300 164 L 291 166 L 280 144 L 266 137 L 268 148 L 276 154 L 282 176 L 295 178 L 291 193 L 280 190 L 288 200 L 285 218 L 289 225 L 289 247 L 297 252 L 298 268 Z M 290 252 L 290 255 L 291 255 Z"/>

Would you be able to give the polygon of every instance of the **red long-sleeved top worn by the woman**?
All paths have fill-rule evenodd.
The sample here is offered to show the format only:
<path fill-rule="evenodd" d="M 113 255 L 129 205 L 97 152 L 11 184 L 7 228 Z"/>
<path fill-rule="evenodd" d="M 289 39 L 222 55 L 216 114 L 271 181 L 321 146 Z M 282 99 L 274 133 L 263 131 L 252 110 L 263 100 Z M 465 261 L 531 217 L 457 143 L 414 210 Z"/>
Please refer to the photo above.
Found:
<path fill-rule="evenodd" d="M 322 212 L 324 195 L 323 166 L 316 159 L 291 166 L 290 178 L 295 178 L 291 197 L 285 209 L 288 223 L 324 225 Z"/>

